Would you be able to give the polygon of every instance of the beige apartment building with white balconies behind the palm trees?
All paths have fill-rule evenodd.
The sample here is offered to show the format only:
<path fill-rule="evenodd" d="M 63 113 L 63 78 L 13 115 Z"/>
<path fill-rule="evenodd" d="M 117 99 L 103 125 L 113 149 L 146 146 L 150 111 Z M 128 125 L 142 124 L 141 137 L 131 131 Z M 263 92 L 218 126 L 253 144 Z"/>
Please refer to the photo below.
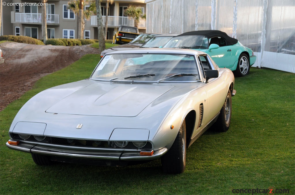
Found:
<path fill-rule="evenodd" d="M 43 39 L 41 32 L 42 3 L 40 0 L 3 0 L 1 35 L 29 36 Z M 46 5 L 47 38 L 78 38 L 78 16 L 67 9 L 68 1 L 48 0 Z M 134 26 L 133 19 L 124 15 L 130 4 L 139 6 L 146 13 L 145 0 L 114 0 L 109 4 L 107 39 L 112 39 L 120 25 Z M 87 3 L 84 9 L 87 9 Z M 105 22 L 106 2 L 101 2 L 103 24 Z M 145 33 L 145 20 L 138 26 Z M 84 38 L 98 39 L 96 15 L 85 20 Z"/>

